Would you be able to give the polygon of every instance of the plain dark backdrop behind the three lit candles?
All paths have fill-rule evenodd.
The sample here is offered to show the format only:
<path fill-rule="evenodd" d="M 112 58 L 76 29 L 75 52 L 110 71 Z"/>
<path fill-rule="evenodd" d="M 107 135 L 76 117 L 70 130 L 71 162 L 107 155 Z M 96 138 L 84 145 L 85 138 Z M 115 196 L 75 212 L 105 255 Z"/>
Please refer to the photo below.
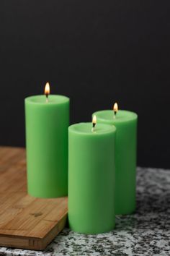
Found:
<path fill-rule="evenodd" d="M 24 145 L 24 98 L 71 98 L 71 123 L 138 113 L 138 165 L 169 168 L 169 1 L 0 1 L 0 145 Z"/>

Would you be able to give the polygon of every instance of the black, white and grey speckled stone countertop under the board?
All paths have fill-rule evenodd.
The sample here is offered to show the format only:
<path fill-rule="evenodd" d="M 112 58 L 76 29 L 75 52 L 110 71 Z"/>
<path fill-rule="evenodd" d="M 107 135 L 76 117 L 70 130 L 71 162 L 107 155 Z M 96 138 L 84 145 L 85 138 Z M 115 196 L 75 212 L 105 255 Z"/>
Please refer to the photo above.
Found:
<path fill-rule="evenodd" d="M 64 229 L 42 252 L 1 247 L 0 255 L 170 255 L 170 171 L 138 168 L 136 213 L 117 216 L 112 232 L 84 235 Z"/>

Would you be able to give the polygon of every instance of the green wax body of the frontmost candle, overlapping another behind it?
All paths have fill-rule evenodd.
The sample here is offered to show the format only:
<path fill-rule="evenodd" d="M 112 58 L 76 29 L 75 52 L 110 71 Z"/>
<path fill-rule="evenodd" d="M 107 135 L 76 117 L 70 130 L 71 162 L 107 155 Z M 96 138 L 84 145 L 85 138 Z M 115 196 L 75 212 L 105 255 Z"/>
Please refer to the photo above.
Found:
<path fill-rule="evenodd" d="M 68 129 L 68 220 L 73 231 L 98 234 L 115 226 L 115 127 Z"/>

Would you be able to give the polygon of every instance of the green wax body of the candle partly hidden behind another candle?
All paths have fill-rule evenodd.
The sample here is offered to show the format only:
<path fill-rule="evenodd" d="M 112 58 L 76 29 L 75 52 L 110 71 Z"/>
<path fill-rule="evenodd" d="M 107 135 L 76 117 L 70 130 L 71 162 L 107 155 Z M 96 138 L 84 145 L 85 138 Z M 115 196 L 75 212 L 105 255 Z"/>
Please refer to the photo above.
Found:
<path fill-rule="evenodd" d="M 115 143 L 115 214 L 130 214 L 135 210 L 137 114 L 111 110 L 94 113 L 97 121 L 117 128 Z"/>

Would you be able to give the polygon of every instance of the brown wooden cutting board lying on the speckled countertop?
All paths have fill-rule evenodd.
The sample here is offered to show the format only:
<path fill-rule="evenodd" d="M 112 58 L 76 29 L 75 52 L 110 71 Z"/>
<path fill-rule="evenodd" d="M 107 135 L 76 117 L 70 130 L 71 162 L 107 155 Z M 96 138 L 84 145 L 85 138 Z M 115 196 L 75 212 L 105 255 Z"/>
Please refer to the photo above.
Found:
<path fill-rule="evenodd" d="M 0 147 L 0 246 L 44 249 L 66 225 L 67 197 L 27 195 L 23 148 Z"/>

